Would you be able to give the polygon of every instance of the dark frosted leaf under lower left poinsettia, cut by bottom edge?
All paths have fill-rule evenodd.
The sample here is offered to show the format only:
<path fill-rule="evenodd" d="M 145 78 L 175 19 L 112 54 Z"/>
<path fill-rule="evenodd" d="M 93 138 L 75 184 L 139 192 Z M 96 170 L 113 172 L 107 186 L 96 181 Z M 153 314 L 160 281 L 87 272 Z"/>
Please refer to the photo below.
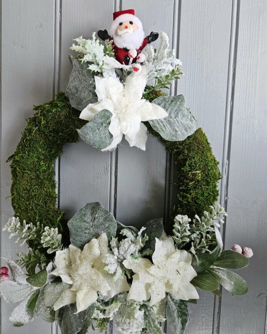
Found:
<path fill-rule="evenodd" d="M 87 310 L 74 314 L 77 311 L 76 304 L 67 305 L 62 317 L 61 334 L 83 334 L 84 326 L 86 327 L 88 324 L 86 318 L 89 317 L 91 320 L 94 309 L 95 306 L 91 305 Z M 87 333 L 87 329 L 85 329 L 85 333 Z"/>

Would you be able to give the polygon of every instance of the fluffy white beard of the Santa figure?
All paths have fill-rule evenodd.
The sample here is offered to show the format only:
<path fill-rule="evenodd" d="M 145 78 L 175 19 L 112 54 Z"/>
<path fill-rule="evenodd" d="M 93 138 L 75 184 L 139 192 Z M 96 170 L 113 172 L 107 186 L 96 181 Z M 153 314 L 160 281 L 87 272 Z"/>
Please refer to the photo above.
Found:
<path fill-rule="evenodd" d="M 139 49 L 144 38 L 145 32 L 142 29 L 137 29 L 136 31 L 125 33 L 121 36 L 113 35 L 114 44 L 119 48 L 126 47 L 127 49 Z"/>

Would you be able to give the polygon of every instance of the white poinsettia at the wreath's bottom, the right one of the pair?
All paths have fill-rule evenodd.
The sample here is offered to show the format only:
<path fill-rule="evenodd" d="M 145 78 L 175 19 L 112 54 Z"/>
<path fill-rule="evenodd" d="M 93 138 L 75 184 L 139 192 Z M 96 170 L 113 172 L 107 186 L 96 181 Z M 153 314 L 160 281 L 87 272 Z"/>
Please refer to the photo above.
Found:
<path fill-rule="evenodd" d="M 191 266 L 192 255 L 174 246 L 172 237 L 156 238 L 153 264 L 144 258 L 128 258 L 123 265 L 135 273 L 127 299 L 146 301 L 155 305 L 165 298 L 166 292 L 173 299 L 198 299 L 198 293 L 190 281 L 197 276 Z"/>

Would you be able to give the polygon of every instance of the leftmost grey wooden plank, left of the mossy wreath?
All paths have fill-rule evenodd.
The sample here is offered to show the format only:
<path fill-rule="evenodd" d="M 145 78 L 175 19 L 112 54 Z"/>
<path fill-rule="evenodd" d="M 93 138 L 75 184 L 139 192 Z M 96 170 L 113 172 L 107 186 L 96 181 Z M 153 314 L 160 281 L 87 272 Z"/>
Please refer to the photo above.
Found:
<path fill-rule="evenodd" d="M 53 98 L 54 3 L 44 0 L 2 0 L 1 8 L 1 218 L 2 227 L 13 215 L 11 173 L 6 159 L 13 154 L 33 105 Z M 22 249 L 1 233 L 2 256 L 16 259 Z M 26 247 L 25 247 L 26 250 Z M 3 334 L 50 333 L 50 324 L 36 320 L 13 327 L 9 315 L 14 304 L 1 301 Z"/>

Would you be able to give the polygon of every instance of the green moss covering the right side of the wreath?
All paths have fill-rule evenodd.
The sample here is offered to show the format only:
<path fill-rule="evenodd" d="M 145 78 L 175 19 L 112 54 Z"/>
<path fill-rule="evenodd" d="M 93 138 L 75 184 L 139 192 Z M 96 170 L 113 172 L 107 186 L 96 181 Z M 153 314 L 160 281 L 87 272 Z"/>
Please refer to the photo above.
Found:
<path fill-rule="evenodd" d="M 149 123 L 146 125 L 153 136 L 161 138 Z M 174 155 L 177 168 L 177 180 L 174 183 L 178 194 L 173 215 L 187 214 L 191 219 L 196 214 L 202 215 L 217 201 L 218 181 L 221 178 L 219 162 L 212 153 L 207 136 L 202 129 L 198 129 L 183 141 L 161 139 L 166 144 L 166 150 Z M 166 226 L 168 231 L 173 222 L 170 224 Z"/>

